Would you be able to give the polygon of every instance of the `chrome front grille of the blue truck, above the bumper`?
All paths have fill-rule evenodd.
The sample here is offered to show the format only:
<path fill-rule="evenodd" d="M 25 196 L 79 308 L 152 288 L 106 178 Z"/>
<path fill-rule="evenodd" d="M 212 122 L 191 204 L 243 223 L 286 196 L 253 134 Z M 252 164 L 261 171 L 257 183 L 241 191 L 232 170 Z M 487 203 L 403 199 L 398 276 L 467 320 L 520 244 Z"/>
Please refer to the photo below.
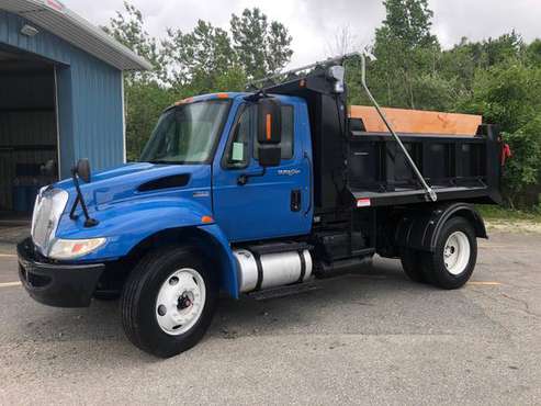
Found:
<path fill-rule="evenodd" d="M 32 240 L 43 255 L 47 255 L 68 198 L 68 193 L 60 189 L 40 191 L 32 216 Z"/>

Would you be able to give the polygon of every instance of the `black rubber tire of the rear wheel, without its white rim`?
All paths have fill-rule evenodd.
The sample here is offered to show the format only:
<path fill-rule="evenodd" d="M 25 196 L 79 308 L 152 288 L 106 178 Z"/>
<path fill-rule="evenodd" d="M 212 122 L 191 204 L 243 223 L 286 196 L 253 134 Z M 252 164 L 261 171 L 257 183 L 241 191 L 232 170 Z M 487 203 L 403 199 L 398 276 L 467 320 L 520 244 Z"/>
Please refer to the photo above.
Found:
<path fill-rule="evenodd" d="M 444 263 L 444 249 L 449 237 L 457 232 L 462 233 L 467 238 L 470 253 L 467 264 L 460 273 L 453 274 L 448 271 Z M 446 290 L 453 290 L 462 287 L 470 280 L 476 261 L 477 239 L 472 225 L 464 217 L 452 217 L 443 225 L 436 244 L 435 252 L 422 255 L 422 270 L 426 280 L 435 286 Z"/>

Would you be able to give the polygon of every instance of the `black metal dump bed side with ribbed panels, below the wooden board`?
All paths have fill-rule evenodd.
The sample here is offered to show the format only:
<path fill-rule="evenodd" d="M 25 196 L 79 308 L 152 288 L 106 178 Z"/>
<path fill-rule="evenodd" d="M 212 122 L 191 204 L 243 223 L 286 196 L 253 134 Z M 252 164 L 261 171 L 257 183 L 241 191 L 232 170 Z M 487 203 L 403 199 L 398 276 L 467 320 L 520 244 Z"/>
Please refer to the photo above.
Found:
<path fill-rule="evenodd" d="M 480 126 L 474 137 L 399 136 L 438 201 L 500 202 L 500 143 L 494 126 Z M 348 146 L 348 190 L 356 204 L 427 201 L 425 189 L 391 134 L 351 131 Z"/>

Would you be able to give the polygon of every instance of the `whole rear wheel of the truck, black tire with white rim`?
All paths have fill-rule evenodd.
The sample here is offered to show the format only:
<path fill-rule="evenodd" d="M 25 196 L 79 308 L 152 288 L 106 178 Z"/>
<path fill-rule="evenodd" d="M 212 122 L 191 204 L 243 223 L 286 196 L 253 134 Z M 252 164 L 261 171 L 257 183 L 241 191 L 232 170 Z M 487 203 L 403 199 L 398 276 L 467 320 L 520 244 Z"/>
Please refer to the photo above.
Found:
<path fill-rule="evenodd" d="M 425 253 L 425 278 L 441 289 L 459 289 L 471 278 L 477 261 L 477 239 L 463 217 L 448 221 L 438 237 L 435 252 Z"/>

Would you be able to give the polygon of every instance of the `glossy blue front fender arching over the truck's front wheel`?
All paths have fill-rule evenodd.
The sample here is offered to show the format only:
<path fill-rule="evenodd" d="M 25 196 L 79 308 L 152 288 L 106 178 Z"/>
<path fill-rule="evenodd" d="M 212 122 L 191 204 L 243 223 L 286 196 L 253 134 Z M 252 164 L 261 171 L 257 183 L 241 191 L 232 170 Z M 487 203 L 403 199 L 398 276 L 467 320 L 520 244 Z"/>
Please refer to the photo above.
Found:
<path fill-rule="evenodd" d="M 69 218 L 63 219 L 61 223 L 66 224 L 58 227 L 61 230 L 57 234 L 59 238 L 108 239 L 105 246 L 78 259 L 78 263 L 123 258 L 145 239 L 171 230 L 180 236 L 189 236 L 190 241 L 202 252 L 216 260 L 221 269 L 221 287 L 232 297 L 238 298 L 236 259 L 219 226 L 214 222 L 203 222 L 203 217 L 211 216 L 210 210 L 203 204 L 190 199 L 161 198 L 116 204 L 94 213 L 100 221 L 95 227 L 84 228 Z M 198 233 L 194 234 L 194 230 Z"/>

